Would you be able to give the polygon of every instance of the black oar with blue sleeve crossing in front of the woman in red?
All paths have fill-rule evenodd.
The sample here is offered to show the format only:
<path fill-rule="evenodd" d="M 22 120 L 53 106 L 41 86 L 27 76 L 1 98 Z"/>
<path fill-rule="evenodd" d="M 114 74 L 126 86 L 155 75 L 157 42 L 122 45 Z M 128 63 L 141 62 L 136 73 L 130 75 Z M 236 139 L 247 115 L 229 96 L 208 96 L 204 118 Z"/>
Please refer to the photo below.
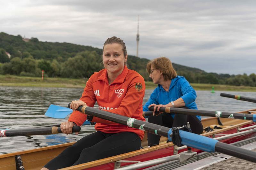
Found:
<path fill-rule="evenodd" d="M 130 128 L 136 128 L 142 131 L 147 131 L 149 133 L 164 136 L 167 137 L 168 139 L 172 137 L 172 129 L 168 127 L 144 122 L 131 117 L 121 116 L 118 114 L 110 113 L 104 110 L 99 110 L 88 106 L 80 106 L 77 110 L 87 115 L 100 117 L 102 119 L 109 120 L 115 123 L 127 125 Z M 188 145 L 207 152 L 217 151 L 256 163 L 256 152 L 245 150 L 243 148 L 239 148 L 233 145 L 221 143 L 216 139 L 208 138 L 205 136 L 197 135 L 195 133 L 190 133 L 182 130 L 180 130 L 180 138 L 182 145 Z M 223 151 L 221 148 L 223 149 Z"/>

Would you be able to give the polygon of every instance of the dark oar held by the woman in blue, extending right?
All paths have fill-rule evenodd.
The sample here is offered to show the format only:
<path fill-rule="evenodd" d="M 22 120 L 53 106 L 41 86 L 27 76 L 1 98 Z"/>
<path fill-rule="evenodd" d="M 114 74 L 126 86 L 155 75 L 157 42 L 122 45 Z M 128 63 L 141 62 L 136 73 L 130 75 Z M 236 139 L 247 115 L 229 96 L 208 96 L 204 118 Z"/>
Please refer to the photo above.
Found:
<path fill-rule="evenodd" d="M 153 110 L 153 109 L 154 109 L 154 106 L 149 108 L 149 110 Z M 199 116 L 252 120 L 253 122 L 256 122 L 255 114 L 251 115 L 251 114 L 243 114 L 243 113 L 229 113 L 229 112 L 222 112 L 222 111 L 183 109 L 183 108 L 175 108 L 175 107 L 161 107 L 159 109 L 159 111 L 166 112 L 166 113 L 176 113 L 176 114 L 195 115 L 195 116 L 199 115 Z"/>

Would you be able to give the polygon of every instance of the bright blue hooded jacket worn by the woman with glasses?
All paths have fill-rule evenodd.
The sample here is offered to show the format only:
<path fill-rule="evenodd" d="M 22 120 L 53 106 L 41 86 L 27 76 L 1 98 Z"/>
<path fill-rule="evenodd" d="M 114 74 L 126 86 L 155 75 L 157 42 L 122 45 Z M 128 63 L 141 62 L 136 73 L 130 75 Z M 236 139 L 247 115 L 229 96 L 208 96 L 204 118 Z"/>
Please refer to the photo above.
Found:
<path fill-rule="evenodd" d="M 184 100 L 188 109 L 197 109 L 196 91 L 190 86 L 185 77 L 176 76 L 172 79 L 168 92 L 164 90 L 162 85 L 158 84 L 158 87 L 150 95 L 148 102 L 143 106 L 143 111 L 149 111 L 148 106 L 150 104 L 168 104 L 180 97 Z M 196 117 L 201 121 L 200 116 Z M 174 118 L 173 113 L 172 118 Z"/>

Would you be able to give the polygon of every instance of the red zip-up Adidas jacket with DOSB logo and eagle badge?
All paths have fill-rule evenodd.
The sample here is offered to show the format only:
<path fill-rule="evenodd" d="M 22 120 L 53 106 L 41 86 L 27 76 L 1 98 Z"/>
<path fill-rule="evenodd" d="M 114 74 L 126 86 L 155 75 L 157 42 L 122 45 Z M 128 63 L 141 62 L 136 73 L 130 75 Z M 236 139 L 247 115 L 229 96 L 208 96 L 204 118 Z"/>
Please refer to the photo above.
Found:
<path fill-rule="evenodd" d="M 124 66 L 123 72 L 109 85 L 107 69 L 95 72 L 86 82 L 86 87 L 80 100 L 87 106 L 93 107 L 97 101 L 99 109 L 115 114 L 132 117 L 145 121 L 142 116 L 142 102 L 145 94 L 145 81 L 136 71 Z M 75 111 L 68 121 L 81 126 L 87 115 Z M 117 124 L 98 117 L 93 117 L 91 122 L 96 122 L 95 129 L 104 133 L 133 132 L 144 137 L 144 131 L 127 125 Z"/>

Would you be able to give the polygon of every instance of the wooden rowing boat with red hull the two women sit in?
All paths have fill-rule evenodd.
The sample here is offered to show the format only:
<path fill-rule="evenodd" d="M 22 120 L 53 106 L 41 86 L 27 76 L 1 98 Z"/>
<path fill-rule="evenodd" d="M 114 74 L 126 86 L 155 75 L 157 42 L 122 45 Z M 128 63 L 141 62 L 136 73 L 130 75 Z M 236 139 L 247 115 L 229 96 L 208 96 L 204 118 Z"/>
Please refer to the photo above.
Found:
<path fill-rule="evenodd" d="M 256 110 L 256 109 L 252 109 Z M 252 110 L 246 110 L 238 113 L 246 113 L 249 114 Z M 204 128 L 206 127 L 220 127 L 221 129 L 213 129 L 210 132 L 205 132 L 202 135 L 210 138 L 216 137 L 218 135 L 228 135 L 234 134 L 238 131 L 241 131 L 242 128 L 250 127 L 256 125 L 250 120 L 237 120 L 237 119 L 228 119 L 228 118 L 217 118 L 217 117 L 209 117 L 202 120 L 202 124 Z M 248 128 L 249 129 L 249 128 Z M 256 132 L 249 132 L 248 134 L 243 134 L 241 136 L 231 137 L 231 138 L 223 138 L 221 142 L 224 143 L 233 143 L 236 141 L 240 141 L 243 139 L 251 138 L 253 135 L 255 136 Z M 132 164 L 129 161 L 147 161 L 153 160 L 157 158 L 162 158 L 170 155 L 174 155 L 180 152 L 187 150 L 184 147 L 180 147 L 177 149 L 177 146 L 174 146 L 172 142 L 166 143 L 167 138 L 161 137 L 160 144 L 153 147 L 147 147 L 147 133 L 145 132 L 145 137 L 142 141 L 142 146 L 144 149 L 128 152 L 121 155 L 100 159 L 92 162 L 88 162 L 85 164 L 80 164 L 76 166 L 70 166 L 67 168 L 63 168 L 65 170 L 68 169 L 114 169 L 115 167 L 120 165 L 121 160 L 123 161 L 122 166 Z M 70 145 L 73 145 L 74 142 L 47 146 L 32 150 L 13 152 L 0 155 L 0 170 L 11 170 L 11 169 L 40 169 L 51 159 L 59 155 L 65 148 Z M 192 151 L 197 153 L 203 152 L 199 149 L 192 148 Z M 20 161 L 21 160 L 21 161 Z M 128 161 L 128 162 L 127 162 Z M 17 165 L 17 166 L 16 166 Z M 20 166 L 22 166 L 20 168 Z"/>

